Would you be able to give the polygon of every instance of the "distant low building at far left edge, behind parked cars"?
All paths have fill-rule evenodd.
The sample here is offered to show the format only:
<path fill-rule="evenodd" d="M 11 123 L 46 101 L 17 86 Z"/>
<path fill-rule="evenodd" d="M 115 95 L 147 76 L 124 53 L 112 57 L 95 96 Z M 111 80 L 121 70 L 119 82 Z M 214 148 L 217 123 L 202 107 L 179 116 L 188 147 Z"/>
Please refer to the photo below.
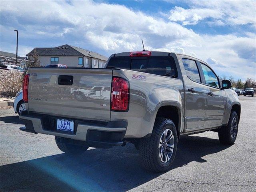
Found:
<path fill-rule="evenodd" d="M 0 51 L 0 65 L 16 65 L 16 54 Z M 26 66 L 26 57 L 17 56 L 17 65 Z"/>

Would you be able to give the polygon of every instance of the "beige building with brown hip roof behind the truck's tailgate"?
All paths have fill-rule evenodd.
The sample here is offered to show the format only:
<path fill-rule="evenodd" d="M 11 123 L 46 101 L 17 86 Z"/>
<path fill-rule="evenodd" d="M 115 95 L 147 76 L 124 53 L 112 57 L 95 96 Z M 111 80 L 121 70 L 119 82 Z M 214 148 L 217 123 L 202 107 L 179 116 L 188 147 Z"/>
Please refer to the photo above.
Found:
<path fill-rule="evenodd" d="M 106 56 L 68 44 L 52 48 L 34 48 L 27 54 L 29 60 L 34 52 L 39 56 L 41 66 L 64 64 L 68 67 L 104 68 L 108 60 Z"/>

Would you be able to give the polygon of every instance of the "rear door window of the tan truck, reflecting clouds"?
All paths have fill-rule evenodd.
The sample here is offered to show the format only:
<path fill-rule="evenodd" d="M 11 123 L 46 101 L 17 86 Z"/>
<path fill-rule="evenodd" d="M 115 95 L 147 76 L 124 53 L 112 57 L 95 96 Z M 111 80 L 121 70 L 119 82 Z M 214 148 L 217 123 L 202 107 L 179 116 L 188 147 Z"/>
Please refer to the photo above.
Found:
<path fill-rule="evenodd" d="M 182 58 L 182 63 L 188 78 L 196 82 L 201 82 L 196 62 L 191 59 Z"/>

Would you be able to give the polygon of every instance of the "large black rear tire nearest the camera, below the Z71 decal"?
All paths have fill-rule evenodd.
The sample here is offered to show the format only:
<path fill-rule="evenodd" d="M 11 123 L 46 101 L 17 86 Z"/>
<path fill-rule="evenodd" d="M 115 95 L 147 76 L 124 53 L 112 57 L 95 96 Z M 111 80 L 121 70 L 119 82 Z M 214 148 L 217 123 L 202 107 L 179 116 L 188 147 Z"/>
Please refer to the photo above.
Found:
<path fill-rule="evenodd" d="M 166 154 L 166 151 L 168 150 L 167 149 L 164 153 L 161 146 L 159 147 L 160 138 L 162 134 L 164 134 L 165 130 L 166 132 L 168 130 L 170 134 L 171 133 L 173 134 L 173 138 L 172 138 L 172 135 L 170 135 L 170 138 L 174 144 L 172 154 L 170 157 L 168 156 L 168 158 L 170 159 L 166 163 L 162 162 L 159 154 L 160 150 L 162 151 L 162 155 Z M 167 135 L 168 134 L 166 133 L 165 136 Z M 140 150 L 140 157 L 142 160 L 142 166 L 144 166 L 144 168 L 146 168 L 147 170 L 150 170 L 153 172 L 165 172 L 169 170 L 176 155 L 177 144 L 178 144 L 177 130 L 172 120 L 167 118 L 156 118 L 154 128 L 150 138 L 143 138 L 140 140 L 139 150 Z M 168 152 L 168 154 L 170 154 L 170 151 Z M 166 160 L 168 158 L 166 158 Z"/>

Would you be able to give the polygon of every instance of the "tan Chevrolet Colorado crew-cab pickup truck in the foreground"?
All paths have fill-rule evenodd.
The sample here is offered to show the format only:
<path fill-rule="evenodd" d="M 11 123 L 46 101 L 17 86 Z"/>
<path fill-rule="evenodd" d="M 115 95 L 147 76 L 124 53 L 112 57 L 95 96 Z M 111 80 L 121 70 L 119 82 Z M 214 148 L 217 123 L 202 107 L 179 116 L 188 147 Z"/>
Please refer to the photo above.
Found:
<path fill-rule="evenodd" d="M 30 68 L 21 130 L 54 135 L 70 154 L 131 142 L 145 168 L 164 172 L 182 135 L 213 130 L 235 142 L 240 102 L 230 88 L 206 62 L 168 52 L 113 54 L 99 69 Z"/>

